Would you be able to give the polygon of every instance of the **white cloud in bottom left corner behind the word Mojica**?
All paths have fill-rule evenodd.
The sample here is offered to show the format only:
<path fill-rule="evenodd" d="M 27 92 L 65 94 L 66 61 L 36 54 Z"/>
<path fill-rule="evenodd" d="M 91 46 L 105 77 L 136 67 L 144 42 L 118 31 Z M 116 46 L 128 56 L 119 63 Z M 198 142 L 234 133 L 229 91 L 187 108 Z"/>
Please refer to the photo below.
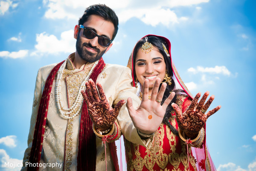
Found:
<path fill-rule="evenodd" d="M 20 171 L 22 160 L 10 158 L 5 150 L 0 149 L 0 170 Z"/>

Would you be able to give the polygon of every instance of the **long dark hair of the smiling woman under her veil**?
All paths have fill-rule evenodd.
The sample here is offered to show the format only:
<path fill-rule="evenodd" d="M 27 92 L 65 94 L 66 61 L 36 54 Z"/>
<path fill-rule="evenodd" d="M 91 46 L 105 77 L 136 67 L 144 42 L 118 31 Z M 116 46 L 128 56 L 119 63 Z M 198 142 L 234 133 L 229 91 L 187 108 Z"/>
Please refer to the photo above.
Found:
<path fill-rule="evenodd" d="M 173 78 L 173 72 L 172 72 L 172 62 L 171 62 L 171 58 L 169 56 L 167 56 L 165 50 L 163 49 L 163 44 L 166 46 L 166 49 L 169 49 L 167 43 L 157 37 L 157 36 L 147 36 L 148 37 L 148 42 L 151 43 L 154 47 L 157 47 L 158 51 L 163 55 L 164 58 L 164 62 L 166 64 L 166 70 L 167 73 L 169 74 L 170 77 Z M 137 52 L 141 49 L 141 46 L 145 43 L 145 38 L 140 39 L 140 41 L 137 42 L 136 46 L 134 47 L 134 53 L 133 53 L 133 66 L 135 66 L 135 59 L 136 59 L 136 55 Z M 163 43 L 163 44 L 162 44 Z M 170 52 L 169 52 L 170 54 Z M 137 78 L 136 76 L 136 72 L 135 72 L 135 67 L 133 68 L 133 73 L 134 73 L 134 79 Z M 163 80 L 163 82 L 166 80 Z M 172 99 L 171 103 L 168 105 L 168 107 L 166 108 L 166 113 L 165 116 L 163 118 L 163 122 L 166 123 L 166 125 L 169 125 L 170 129 L 172 130 L 172 133 L 174 133 L 175 135 L 178 135 L 178 131 L 176 130 L 176 128 L 174 128 L 174 126 L 172 126 L 169 122 L 169 118 L 172 116 L 172 113 L 174 112 L 173 107 L 172 107 L 172 103 L 177 103 L 177 95 L 182 94 L 184 95 L 184 91 L 183 90 L 174 90 L 175 89 L 175 82 L 172 79 L 172 84 L 169 85 L 167 84 L 166 86 L 166 90 L 165 93 L 163 95 L 163 101 L 161 102 L 161 104 L 163 104 L 163 102 L 168 98 L 168 96 L 170 95 L 170 93 L 172 91 L 175 92 L 175 97 Z"/>

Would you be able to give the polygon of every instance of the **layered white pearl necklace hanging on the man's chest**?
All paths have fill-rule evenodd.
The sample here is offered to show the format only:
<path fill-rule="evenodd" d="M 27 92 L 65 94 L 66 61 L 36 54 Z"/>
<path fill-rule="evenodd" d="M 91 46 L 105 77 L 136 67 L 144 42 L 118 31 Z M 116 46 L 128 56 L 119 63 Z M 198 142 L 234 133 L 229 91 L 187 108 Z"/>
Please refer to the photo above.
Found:
<path fill-rule="evenodd" d="M 79 87 L 79 91 L 76 96 L 76 100 L 70 108 L 63 107 L 62 102 L 61 102 L 61 79 L 62 79 L 63 71 L 67 64 L 67 60 L 61 65 L 60 69 L 57 72 L 57 80 L 56 80 L 56 85 L 55 85 L 55 97 L 56 97 L 58 110 L 64 118 L 72 119 L 72 118 L 76 117 L 79 114 L 79 112 L 81 111 L 82 104 L 83 104 L 82 103 L 83 97 L 81 94 L 81 90 L 85 90 L 85 82 L 90 78 L 90 75 L 92 74 L 94 68 L 96 67 L 96 65 L 98 63 L 99 63 L 99 61 L 96 61 L 93 64 L 93 67 L 90 69 L 90 72 L 84 78 L 84 81 L 81 83 L 81 85 Z M 63 110 L 66 112 L 64 112 Z M 73 115 L 70 116 L 70 114 L 73 114 Z"/>

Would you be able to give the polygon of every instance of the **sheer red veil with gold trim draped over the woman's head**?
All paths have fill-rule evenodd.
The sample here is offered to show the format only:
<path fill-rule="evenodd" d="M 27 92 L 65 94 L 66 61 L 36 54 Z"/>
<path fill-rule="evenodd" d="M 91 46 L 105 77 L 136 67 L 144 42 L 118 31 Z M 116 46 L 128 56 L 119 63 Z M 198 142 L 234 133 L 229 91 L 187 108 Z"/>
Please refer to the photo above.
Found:
<path fill-rule="evenodd" d="M 156 36 L 158 38 L 163 39 L 163 41 L 165 41 L 165 43 L 168 45 L 168 51 L 169 51 L 169 55 L 170 55 L 170 59 L 171 59 L 171 64 L 172 64 L 172 72 L 173 75 L 172 79 L 175 81 L 175 85 L 176 85 L 176 89 L 177 87 L 179 89 L 182 89 L 186 92 L 186 94 L 191 97 L 193 99 L 192 94 L 189 92 L 188 88 L 186 87 L 186 85 L 183 83 L 182 79 L 180 78 L 179 73 L 176 70 L 176 67 L 174 65 L 174 63 L 172 62 L 172 56 L 171 56 L 171 42 L 162 36 L 157 36 L 157 35 L 146 35 L 145 37 L 148 36 Z M 141 39 L 143 39 L 141 38 Z M 128 61 L 128 66 L 131 69 L 132 72 L 132 78 L 133 78 L 133 86 L 135 87 L 135 80 L 134 80 L 134 64 L 133 64 L 133 56 L 134 56 L 134 50 L 129 58 Z M 204 125 L 204 129 L 206 129 L 206 124 Z M 203 148 L 194 148 L 191 147 L 192 150 L 192 154 L 195 157 L 197 163 L 196 163 L 196 168 L 198 171 L 216 171 L 216 168 L 212 162 L 212 159 L 210 157 L 209 151 L 208 151 L 208 147 L 207 147 L 207 143 L 206 143 L 206 135 L 204 135 L 204 142 L 202 144 Z"/>

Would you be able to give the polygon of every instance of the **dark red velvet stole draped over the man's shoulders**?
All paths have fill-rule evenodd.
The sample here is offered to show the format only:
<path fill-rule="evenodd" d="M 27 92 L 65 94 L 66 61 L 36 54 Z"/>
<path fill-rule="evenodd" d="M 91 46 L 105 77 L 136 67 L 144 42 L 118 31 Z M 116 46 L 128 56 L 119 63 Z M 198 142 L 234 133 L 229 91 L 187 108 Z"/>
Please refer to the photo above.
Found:
<path fill-rule="evenodd" d="M 55 79 L 55 75 L 58 72 L 61 64 L 64 61 L 57 64 L 52 71 L 50 72 L 47 81 L 44 86 L 44 91 L 41 97 L 40 106 L 38 110 L 38 116 L 36 119 L 35 124 L 35 132 L 34 138 L 32 142 L 32 148 L 30 152 L 29 162 L 30 163 L 40 163 L 41 159 L 41 151 L 43 147 L 43 140 L 44 140 L 44 132 L 45 132 L 45 125 L 47 119 L 47 112 L 48 112 L 48 105 L 50 94 L 52 90 L 52 83 Z M 90 78 L 96 82 L 98 75 L 102 72 L 103 68 L 105 67 L 105 62 L 101 58 L 99 63 L 96 65 L 95 69 L 93 70 Z M 116 146 L 114 142 L 109 143 L 110 151 L 112 154 L 113 162 L 115 165 L 116 170 L 118 168 L 117 162 L 117 155 L 116 155 Z M 38 171 L 39 167 L 28 167 L 28 171 Z M 79 150 L 77 155 L 77 170 L 96 170 L 96 136 L 93 133 L 92 129 L 92 121 L 89 117 L 87 111 L 87 105 L 84 102 L 81 112 L 81 120 L 80 120 L 80 132 L 79 132 Z"/>

